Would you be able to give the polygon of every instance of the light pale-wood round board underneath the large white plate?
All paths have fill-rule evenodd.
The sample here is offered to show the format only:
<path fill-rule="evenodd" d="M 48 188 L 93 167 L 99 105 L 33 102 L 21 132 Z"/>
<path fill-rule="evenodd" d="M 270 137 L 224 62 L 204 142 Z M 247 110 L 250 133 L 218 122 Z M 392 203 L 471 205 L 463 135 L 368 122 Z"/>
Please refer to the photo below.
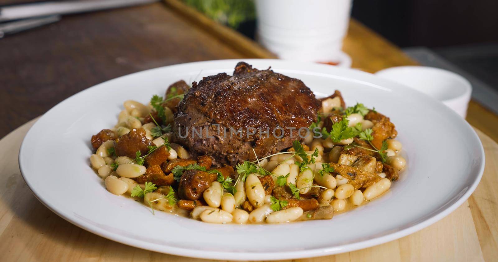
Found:
<path fill-rule="evenodd" d="M 197 261 L 129 247 L 87 232 L 46 208 L 29 191 L 17 164 L 35 120 L 0 140 L 0 261 Z M 495 261 L 498 258 L 498 144 L 476 130 L 486 153 L 474 194 L 439 222 L 372 248 L 298 261 Z M 200 260 L 199 260 L 200 261 Z"/>

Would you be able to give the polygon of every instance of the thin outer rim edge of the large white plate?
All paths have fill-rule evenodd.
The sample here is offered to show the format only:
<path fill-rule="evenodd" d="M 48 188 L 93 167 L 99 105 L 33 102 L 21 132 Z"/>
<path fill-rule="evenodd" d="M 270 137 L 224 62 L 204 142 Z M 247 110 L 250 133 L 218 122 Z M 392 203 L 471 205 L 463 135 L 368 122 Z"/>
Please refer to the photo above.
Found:
<path fill-rule="evenodd" d="M 22 167 L 22 161 L 21 161 L 21 154 L 22 154 L 22 152 L 23 152 L 23 150 L 25 149 L 25 146 L 26 146 L 25 143 L 24 143 L 26 141 L 26 137 L 28 137 L 28 135 L 30 135 L 30 132 L 33 130 L 33 127 L 35 127 L 38 123 L 40 123 L 40 120 L 43 120 L 44 118 L 46 118 L 47 113 L 50 113 L 52 110 L 54 110 L 55 108 L 61 106 L 64 103 L 66 103 L 68 100 L 72 99 L 73 97 L 75 97 L 77 95 L 80 95 L 83 92 L 87 92 L 87 91 L 89 91 L 92 88 L 98 88 L 100 85 L 104 85 L 104 84 L 106 84 L 109 81 L 113 81 L 113 80 L 116 80 L 116 79 L 119 79 L 119 78 L 123 78 L 123 77 L 127 77 L 127 76 L 130 76 L 130 75 L 134 75 L 134 74 L 139 74 L 139 73 L 142 73 L 142 72 L 145 72 L 145 71 L 161 70 L 161 69 L 164 69 L 165 67 L 191 66 L 191 65 L 202 64 L 202 63 L 206 63 L 206 64 L 210 64 L 210 63 L 232 63 L 233 65 L 235 65 L 235 64 L 237 64 L 240 61 L 244 61 L 244 62 L 247 62 L 249 64 L 254 64 L 254 63 L 257 64 L 257 63 L 267 62 L 267 64 L 270 64 L 270 65 L 272 65 L 272 63 L 277 63 L 277 64 L 285 65 L 285 64 L 288 64 L 288 63 L 295 63 L 295 62 L 297 62 L 297 61 L 292 61 L 292 60 L 275 60 L 275 59 L 228 59 L 228 60 L 211 60 L 211 61 L 200 61 L 200 62 L 182 63 L 182 64 L 176 64 L 176 65 L 170 65 L 170 66 L 161 66 L 161 67 L 156 67 L 156 68 L 150 68 L 150 69 L 146 69 L 146 70 L 134 72 L 134 73 L 131 73 L 131 74 L 126 74 L 126 75 L 123 75 L 123 76 L 119 76 L 119 77 L 116 77 L 116 78 L 104 81 L 102 83 L 98 83 L 98 84 L 93 85 L 93 86 L 91 86 L 89 88 L 86 88 L 84 90 L 81 90 L 80 92 L 78 92 L 78 93 L 76 93 L 74 95 L 71 95 L 70 97 L 64 99 L 63 101 L 61 101 L 59 103 L 57 103 L 54 107 L 52 107 L 45 114 L 43 114 L 36 121 L 36 123 L 33 124 L 33 126 L 29 129 L 29 131 L 26 132 L 26 135 L 25 135 L 25 137 L 23 138 L 23 140 L 21 142 L 21 145 L 20 145 L 20 148 L 19 148 L 19 154 L 18 154 L 19 169 L 21 171 L 22 178 L 24 179 L 26 185 L 31 190 L 31 192 L 33 193 L 33 195 L 40 202 L 42 202 L 47 208 L 49 208 L 52 212 L 54 212 L 57 215 L 59 215 L 60 217 L 64 218 L 66 221 L 68 221 L 68 222 L 70 222 L 70 223 L 72 223 L 72 224 L 74 224 L 74 225 L 76 225 L 76 226 L 78 226 L 78 227 L 80 227 L 82 229 L 85 229 L 85 230 L 87 230 L 87 231 L 89 231 L 91 233 L 94 233 L 94 234 L 99 235 L 101 237 L 104 237 L 104 238 L 107 238 L 107 239 L 110 239 L 112 241 L 116 241 L 116 242 L 119 242 L 119 243 L 122 243 L 122 244 L 125 244 L 125 245 L 128 245 L 128 246 L 138 247 L 138 248 L 149 250 L 149 251 L 160 252 L 160 253 L 165 253 L 165 254 L 170 254 L 170 255 L 183 256 L 183 257 L 190 257 L 190 258 L 220 259 L 220 260 L 248 260 L 248 259 L 250 259 L 250 260 L 282 260 L 282 259 L 301 259 L 301 258 L 311 258 L 311 257 L 320 257 L 320 256 L 328 256 L 328 255 L 346 253 L 346 252 L 350 252 L 350 251 L 365 249 L 365 248 L 373 247 L 373 246 L 376 246 L 376 245 L 384 244 L 384 243 L 387 243 L 387 242 L 390 242 L 390 241 L 402 238 L 402 237 L 407 236 L 409 234 L 412 234 L 414 232 L 417 232 L 417 231 L 419 231 L 419 230 L 421 230 L 423 228 L 426 228 L 426 227 L 434 224 L 435 222 L 441 220 L 442 218 L 444 218 L 445 216 L 447 216 L 448 214 L 450 214 L 451 212 L 453 212 L 455 209 L 457 209 L 463 202 L 465 202 L 469 198 L 469 196 L 472 195 L 472 193 L 475 191 L 475 189 L 479 185 L 479 183 L 480 183 L 480 181 L 482 179 L 483 173 L 484 173 L 484 167 L 485 167 L 485 161 L 486 161 L 486 159 L 485 159 L 485 153 L 484 153 L 484 147 L 483 147 L 481 139 L 477 135 L 476 131 L 472 128 L 472 126 L 470 126 L 470 124 L 468 122 L 466 122 L 465 120 L 462 119 L 463 123 L 466 124 L 467 128 L 471 131 L 471 133 L 474 136 L 474 138 L 479 141 L 479 144 L 477 146 L 479 147 L 479 151 L 480 151 L 480 158 L 479 159 L 481 160 L 481 166 L 479 167 L 479 170 L 477 171 L 478 175 L 477 175 L 477 178 L 474 180 L 473 184 L 469 187 L 469 189 L 465 192 L 465 194 L 463 194 L 462 196 L 458 197 L 458 199 L 456 201 L 454 201 L 453 204 L 447 206 L 446 208 L 442 209 L 438 213 L 431 215 L 429 218 L 424 219 L 421 222 L 417 222 L 414 225 L 408 226 L 407 228 L 404 228 L 402 230 L 395 231 L 395 232 L 385 233 L 385 234 L 382 234 L 380 236 L 375 236 L 373 238 L 370 238 L 370 239 L 367 239 L 367 240 L 363 240 L 363 241 L 358 241 L 358 242 L 344 244 L 344 245 L 337 245 L 337 246 L 334 246 L 334 247 L 331 247 L 331 248 L 323 248 L 322 247 L 322 248 L 315 248 L 315 249 L 308 249 L 308 250 L 299 250 L 299 251 L 288 251 L 288 252 L 258 252 L 258 253 L 252 253 L 252 252 L 247 252 L 247 251 L 245 251 L 245 252 L 220 252 L 220 251 L 207 251 L 207 250 L 195 250 L 195 249 L 188 249 L 188 248 L 171 247 L 171 246 L 167 246 L 165 244 L 155 244 L 155 243 L 150 243 L 150 242 L 147 242 L 147 241 L 132 239 L 130 237 L 121 236 L 121 235 L 112 233 L 110 231 L 102 230 L 102 229 L 99 230 L 98 227 L 92 226 L 90 223 L 85 222 L 85 220 L 83 220 L 83 219 L 76 220 L 73 217 L 69 217 L 63 210 L 59 210 L 55 206 L 51 205 L 49 202 L 44 201 L 42 199 L 42 197 L 38 195 L 39 192 L 36 192 L 36 190 L 33 188 L 33 185 L 30 184 L 30 182 L 29 182 L 28 179 L 26 179 L 26 176 L 24 175 L 24 171 L 23 171 L 23 167 Z M 315 63 L 303 63 L 303 62 L 299 62 L 299 63 L 300 64 L 313 65 L 313 66 L 320 66 L 320 67 L 330 66 L 330 65 L 320 65 L 320 64 L 315 64 Z M 277 66 L 275 66 L 275 67 L 277 67 Z M 332 68 L 334 68 L 334 69 L 332 69 Z M 362 73 L 362 74 L 365 74 L 365 75 L 374 76 L 374 74 L 371 74 L 371 73 L 368 73 L 368 72 L 364 72 L 364 71 L 360 71 L 360 70 L 357 70 L 357 69 L 350 69 L 350 68 L 336 67 L 336 66 L 330 66 L 330 69 L 336 70 L 338 72 L 340 72 L 340 71 L 356 71 L 357 73 Z M 287 70 L 290 70 L 290 69 L 287 69 Z M 299 71 L 308 71 L 308 72 L 312 71 L 310 69 L 296 69 L 296 70 L 299 70 Z M 334 72 L 329 72 L 327 74 L 334 74 Z M 378 78 L 378 76 L 374 76 L 374 77 Z M 358 81 L 365 82 L 365 80 L 352 79 L 351 77 L 347 77 L 347 78 L 350 79 L 350 80 L 358 80 Z M 395 83 L 395 82 L 393 82 L 391 80 L 381 79 L 381 78 L 378 78 L 378 79 L 380 79 L 381 81 L 384 81 L 384 82 L 388 82 L 391 85 L 400 86 L 400 84 Z M 377 85 L 377 84 L 375 84 L 375 85 Z M 430 97 L 430 96 L 428 96 L 426 94 L 423 94 L 423 93 L 421 93 L 418 90 L 414 90 L 414 89 L 411 89 L 411 88 L 405 87 L 405 86 L 403 86 L 403 88 L 408 88 L 408 89 L 413 90 L 413 91 L 415 91 L 417 93 L 420 93 L 423 96 L 425 96 L 427 99 L 433 100 L 433 102 L 441 103 L 438 100 L 436 100 L 436 99 L 434 99 L 434 98 L 432 98 L 432 97 Z M 457 113 L 453 112 L 451 109 L 449 109 L 449 108 L 447 108 L 447 109 L 448 109 L 447 112 L 451 112 L 450 114 L 457 115 Z"/>

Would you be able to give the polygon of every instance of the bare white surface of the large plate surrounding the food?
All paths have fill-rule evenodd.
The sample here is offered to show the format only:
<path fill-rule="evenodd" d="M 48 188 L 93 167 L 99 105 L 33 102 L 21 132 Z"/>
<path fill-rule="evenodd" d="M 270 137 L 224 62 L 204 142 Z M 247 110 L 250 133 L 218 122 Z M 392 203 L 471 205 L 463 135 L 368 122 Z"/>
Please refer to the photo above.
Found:
<path fill-rule="evenodd" d="M 178 79 L 232 73 L 239 60 L 165 66 L 86 89 L 48 111 L 19 152 L 22 175 L 51 210 L 90 232 L 143 249 L 220 260 L 279 260 L 337 254 L 420 230 L 456 209 L 477 187 L 484 151 L 472 128 L 440 102 L 372 74 L 319 64 L 246 60 L 299 78 L 317 95 L 342 91 L 389 116 L 407 168 L 384 196 L 332 220 L 281 225 L 216 225 L 151 212 L 107 192 L 90 168 L 91 135 L 113 127 L 123 102 L 147 102 Z"/>

